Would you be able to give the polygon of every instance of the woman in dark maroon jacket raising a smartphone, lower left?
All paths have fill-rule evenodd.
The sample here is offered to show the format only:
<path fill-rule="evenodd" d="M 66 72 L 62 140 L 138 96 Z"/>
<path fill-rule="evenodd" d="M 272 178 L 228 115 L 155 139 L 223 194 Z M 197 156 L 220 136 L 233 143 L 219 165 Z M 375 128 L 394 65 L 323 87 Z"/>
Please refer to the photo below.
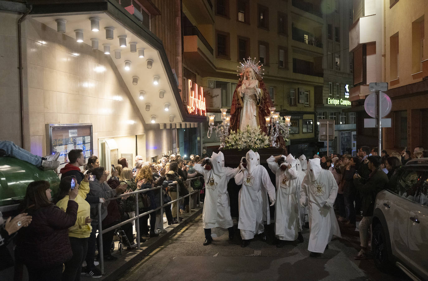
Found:
<path fill-rule="evenodd" d="M 65 212 L 52 204 L 51 191 L 49 182 L 33 181 L 19 208 L 32 216 L 30 225 L 18 232 L 15 249 L 17 262 L 27 266 L 30 281 L 61 280 L 62 263 L 73 256 L 68 228 L 76 223 L 78 189 L 68 194 Z"/>

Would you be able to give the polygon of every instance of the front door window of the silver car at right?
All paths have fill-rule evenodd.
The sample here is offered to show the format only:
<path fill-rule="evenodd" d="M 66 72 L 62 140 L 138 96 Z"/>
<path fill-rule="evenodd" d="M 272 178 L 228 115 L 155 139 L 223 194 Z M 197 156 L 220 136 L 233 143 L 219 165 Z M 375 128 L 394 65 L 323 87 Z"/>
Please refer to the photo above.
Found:
<path fill-rule="evenodd" d="M 404 198 L 415 200 L 416 191 L 424 178 L 425 172 L 421 170 L 404 169 L 398 177 L 396 184 L 390 185 L 388 189 Z"/>

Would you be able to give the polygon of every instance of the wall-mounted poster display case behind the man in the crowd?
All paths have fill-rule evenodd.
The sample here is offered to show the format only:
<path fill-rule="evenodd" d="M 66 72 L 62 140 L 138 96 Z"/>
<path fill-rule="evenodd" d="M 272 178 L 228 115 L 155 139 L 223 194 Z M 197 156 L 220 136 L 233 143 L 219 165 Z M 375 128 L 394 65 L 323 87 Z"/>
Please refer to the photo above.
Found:
<path fill-rule="evenodd" d="M 57 172 L 69 162 L 68 152 L 72 149 L 83 150 L 85 164 L 93 154 L 92 123 L 46 124 L 47 153 L 59 152 Z"/>

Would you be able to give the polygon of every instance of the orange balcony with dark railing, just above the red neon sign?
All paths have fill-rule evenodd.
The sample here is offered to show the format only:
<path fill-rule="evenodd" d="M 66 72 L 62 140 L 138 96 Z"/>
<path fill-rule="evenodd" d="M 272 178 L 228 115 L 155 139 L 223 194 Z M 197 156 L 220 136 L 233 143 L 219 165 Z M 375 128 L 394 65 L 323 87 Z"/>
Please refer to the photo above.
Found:
<path fill-rule="evenodd" d="M 184 58 L 196 68 L 214 70 L 214 49 L 195 26 L 183 27 Z"/>

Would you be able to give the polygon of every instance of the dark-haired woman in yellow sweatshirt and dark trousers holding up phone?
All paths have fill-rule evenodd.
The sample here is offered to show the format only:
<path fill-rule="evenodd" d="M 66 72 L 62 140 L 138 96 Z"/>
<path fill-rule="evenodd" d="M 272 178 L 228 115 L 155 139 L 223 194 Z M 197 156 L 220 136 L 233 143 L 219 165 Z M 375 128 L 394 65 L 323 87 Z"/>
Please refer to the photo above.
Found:
<path fill-rule="evenodd" d="M 92 231 L 90 218 L 91 206 L 85 200 L 86 194 L 89 193 L 88 177 L 89 175 L 86 174 L 80 185 L 75 182 L 75 178 L 73 177 L 63 177 L 59 183 L 56 206 L 65 211 L 67 209 L 69 194 L 73 189 L 78 190 L 74 201 L 79 205 L 77 208 L 76 223 L 71 228 L 68 228 L 68 239 L 70 240 L 73 257 L 64 263 L 65 270 L 62 273 L 62 280 L 79 280 L 82 263 L 86 258 L 88 239 Z"/>

